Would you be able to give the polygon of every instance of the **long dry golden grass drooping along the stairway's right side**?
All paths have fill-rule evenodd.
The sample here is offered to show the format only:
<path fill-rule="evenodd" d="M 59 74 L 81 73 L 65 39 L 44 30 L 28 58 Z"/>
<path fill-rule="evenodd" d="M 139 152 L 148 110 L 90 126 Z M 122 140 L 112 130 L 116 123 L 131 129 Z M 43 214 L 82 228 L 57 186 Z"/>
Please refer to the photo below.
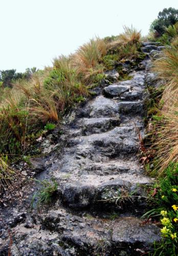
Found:
<path fill-rule="evenodd" d="M 172 46 L 164 51 L 164 57 L 154 61 L 153 71 L 166 82 L 161 98 L 161 120 L 156 122 L 157 139 L 153 147 L 157 149 L 159 174 L 171 162 L 178 160 L 178 50 Z"/>

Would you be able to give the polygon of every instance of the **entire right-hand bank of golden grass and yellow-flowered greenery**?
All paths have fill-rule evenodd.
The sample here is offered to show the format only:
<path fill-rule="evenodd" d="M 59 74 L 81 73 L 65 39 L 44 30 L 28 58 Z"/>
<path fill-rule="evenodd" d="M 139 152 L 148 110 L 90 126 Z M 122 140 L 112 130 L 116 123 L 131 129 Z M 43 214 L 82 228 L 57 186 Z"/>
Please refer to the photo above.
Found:
<path fill-rule="evenodd" d="M 170 28 L 169 28 L 170 29 Z M 169 38 L 170 39 L 170 38 Z M 160 87 L 151 91 L 148 111 L 147 172 L 157 177 L 151 191 L 152 209 L 146 216 L 161 226 L 162 241 L 150 255 L 177 255 L 178 251 L 178 44 L 171 38 L 164 56 L 153 62 Z M 148 156 L 152 158 L 149 162 Z"/>

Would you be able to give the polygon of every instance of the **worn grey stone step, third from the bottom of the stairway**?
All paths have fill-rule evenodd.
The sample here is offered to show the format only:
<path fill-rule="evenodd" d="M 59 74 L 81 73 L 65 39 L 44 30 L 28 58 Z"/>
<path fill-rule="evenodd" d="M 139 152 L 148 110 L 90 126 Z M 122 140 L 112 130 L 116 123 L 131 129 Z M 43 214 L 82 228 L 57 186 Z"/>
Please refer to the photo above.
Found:
<path fill-rule="evenodd" d="M 70 159 L 70 161 L 69 161 Z M 115 158 L 113 160 L 103 157 L 93 161 L 89 158 L 71 157 L 63 155 L 60 163 L 56 159 L 53 163 L 54 176 L 61 183 L 76 181 L 81 175 L 115 175 L 115 174 L 142 174 L 144 172 L 138 160 L 130 157 L 130 160 Z M 75 178 L 76 176 L 76 178 Z"/>

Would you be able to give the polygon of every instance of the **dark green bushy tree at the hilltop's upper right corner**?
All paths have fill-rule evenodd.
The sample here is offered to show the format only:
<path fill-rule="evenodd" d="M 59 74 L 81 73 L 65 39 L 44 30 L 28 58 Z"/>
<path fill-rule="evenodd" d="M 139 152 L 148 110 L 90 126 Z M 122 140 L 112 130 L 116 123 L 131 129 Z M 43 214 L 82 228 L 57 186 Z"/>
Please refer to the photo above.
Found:
<path fill-rule="evenodd" d="M 165 33 L 165 27 L 174 25 L 178 22 L 178 10 L 174 8 L 163 9 L 159 12 L 158 18 L 153 20 L 150 31 L 156 32 L 157 36 L 161 36 Z"/>

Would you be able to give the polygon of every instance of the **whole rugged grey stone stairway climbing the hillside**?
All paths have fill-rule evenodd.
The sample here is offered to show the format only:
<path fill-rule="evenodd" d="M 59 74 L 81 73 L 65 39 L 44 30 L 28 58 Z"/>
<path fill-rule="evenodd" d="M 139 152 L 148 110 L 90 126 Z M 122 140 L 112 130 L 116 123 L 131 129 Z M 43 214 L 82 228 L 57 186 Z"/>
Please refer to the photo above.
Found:
<path fill-rule="evenodd" d="M 144 44 L 144 52 L 161 50 Z M 0 230 L 1 255 L 9 248 L 14 256 L 141 255 L 160 240 L 159 227 L 140 218 L 153 182 L 138 156 L 145 89 L 155 78 L 150 64 L 147 56 L 125 81 L 107 72 L 113 84 L 94 89 L 97 95 L 72 113 L 63 125 L 62 150 L 51 153 L 37 176 L 56 179 L 56 202 L 40 214 L 11 209 L 11 233 Z"/>

